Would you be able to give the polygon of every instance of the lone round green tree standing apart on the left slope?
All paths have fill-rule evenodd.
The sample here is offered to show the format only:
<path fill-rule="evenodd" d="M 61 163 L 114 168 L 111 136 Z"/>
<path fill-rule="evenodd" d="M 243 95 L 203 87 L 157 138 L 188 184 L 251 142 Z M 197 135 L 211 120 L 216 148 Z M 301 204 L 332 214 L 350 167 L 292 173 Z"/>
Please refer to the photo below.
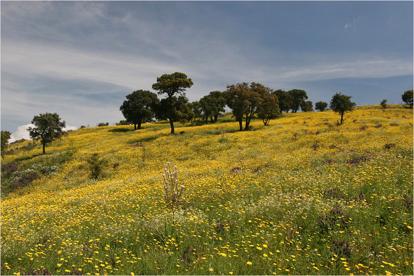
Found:
<path fill-rule="evenodd" d="M 62 137 L 62 128 L 66 127 L 65 121 L 60 121 L 57 113 L 40 113 L 35 115 L 32 120 L 34 127 L 29 127 L 30 138 L 40 139 L 43 144 L 43 154 L 46 153 L 46 144 L 53 142 L 55 139 Z"/>

